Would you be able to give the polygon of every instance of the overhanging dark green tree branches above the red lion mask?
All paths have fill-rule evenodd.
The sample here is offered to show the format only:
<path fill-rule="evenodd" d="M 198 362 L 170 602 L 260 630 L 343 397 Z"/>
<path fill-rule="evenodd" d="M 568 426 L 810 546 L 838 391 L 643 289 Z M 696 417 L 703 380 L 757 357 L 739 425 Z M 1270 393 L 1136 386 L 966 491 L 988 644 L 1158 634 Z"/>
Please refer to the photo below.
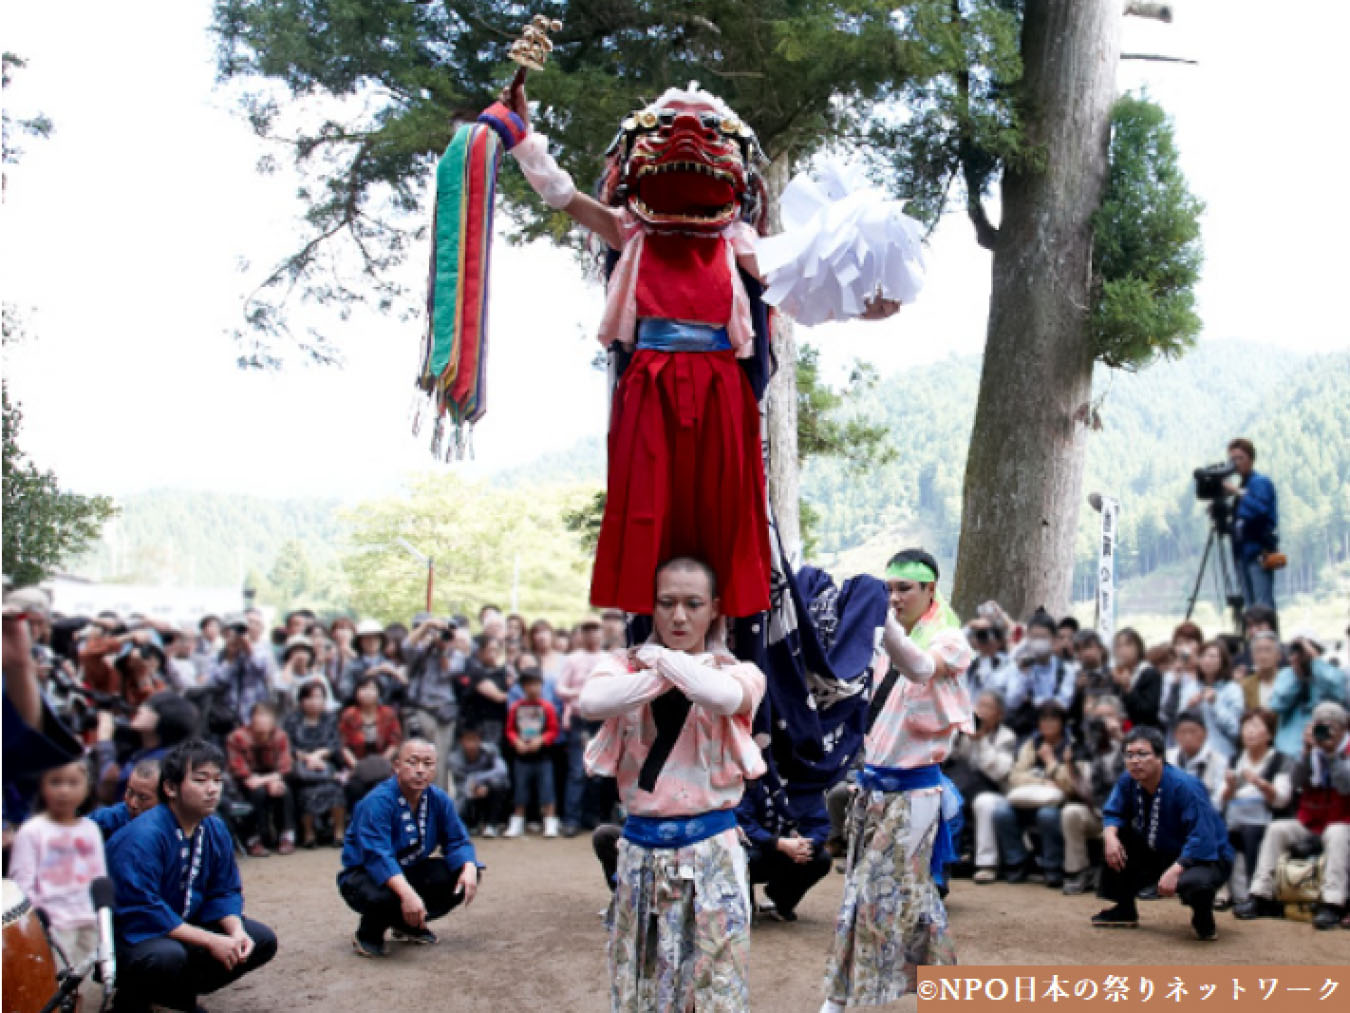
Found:
<path fill-rule="evenodd" d="M 261 135 L 279 134 L 285 122 L 306 176 L 300 196 L 309 235 L 250 301 L 256 343 L 244 359 L 270 363 L 286 342 L 331 355 L 321 339 L 289 331 L 293 292 L 344 308 L 387 307 L 406 294 L 393 267 L 424 238 L 424 223 L 409 224 L 408 215 L 421 207 L 432 157 L 456 120 L 477 115 L 509 80 L 514 65 L 506 49 L 536 11 L 564 24 L 548 68 L 529 78 L 540 101 L 536 120 L 585 185 L 598 177 L 620 120 L 690 80 L 729 101 L 771 158 L 791 165 L 824 145 L 856 139 L 876 100 L 964 59 L 963 46 L 917 39 L 948 7 L 936 0 L 555 0 L 533 8 L 489 0 L 216 0 L 220 77 L 247 82 L 244 112 Z M 971 45 L 1003 53 L 1007 32 L 986 24 L 992 18 L 986 7 L 998 4 L 976 7 L 980 42 Z M 898 31 L 902 24 L 910 27 Z M 1002 58 L 991 62 L 1002 66 Z M 282 112 L 309 99 L 319 101 Z M 513 166 L 504 169 L 501 189 L 522 236 L 575 236 Z M 344 273 L 352 258 L 360 271 Z"/>

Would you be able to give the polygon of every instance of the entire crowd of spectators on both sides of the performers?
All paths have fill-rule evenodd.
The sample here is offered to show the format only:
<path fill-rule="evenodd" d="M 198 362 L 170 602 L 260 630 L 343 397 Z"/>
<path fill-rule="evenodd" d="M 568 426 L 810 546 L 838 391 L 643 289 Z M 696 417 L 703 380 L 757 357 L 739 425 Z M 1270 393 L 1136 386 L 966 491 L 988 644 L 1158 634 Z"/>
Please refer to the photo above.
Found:
<path fill-rule="evenodd" d="M 585 771 L 598 725 L 576 701 L 606 652 L 625 646 L 622 613 L 555 628 L 491 605 L 475 621 L 418 613 L 408 625 L 298 609 L 269 629 L 256 609 L 192 628 L 54 617 L 31 593 L 14 608 L 7 598 L 7 623 L 19 608 L 42 697 L 86 754 L 26 793 L 7 782 L 7 855 L 14 841 L 12 875 L 53 909 L 73 948 L 88 947 L 77 939 L 88 924 L 63 917 L 80 904 L 42 882 L 45 850 L 85 855 L 76 839 L 89 833 L 86 812 L 108 839 L 153 808 L 159 760 L 193 737 L 227 758 L 220 814 L 252 858 L 340 847 L 356 802 L 416 736 L 436 746 L 436 783 L 470 832 L 598 828 L 597 854 L 613 859 L 622 817 L 613 781 Z M 1072 619 L 1037 612 L 1017 623 L 981 606 L 965 625 L 975 728 L 957 735 L 944 764 L 965 806 L 949 874 L 1065 894 L 1100 889 L 1103 808 L 1125 771 L 1122 743 L 1134 728 L 1156 728 L 1168 764 L 1204 786 L 1237 854 L 1215 906 L 1350 928 L 1346 671 L 1318 636 L 1281 638 L 1270 609 L 1254 606 L 1245 620 L 1243 636 L 1207 636 L 1187 621 L 1166 643 L 1125 628 L 1106 644 Z M 791 920 L 830 852 L 840 856 L 837 790 L 790 797 L 786 835 L 760 794 L 748 786 L 738 823 L 753 881 L 771 887 L 764 909 Z M 1292 908 L 1291 862 L 1316 863 L 1316 898 Z M 1139 893 L 1154 895 L 1153 886 Z"/>

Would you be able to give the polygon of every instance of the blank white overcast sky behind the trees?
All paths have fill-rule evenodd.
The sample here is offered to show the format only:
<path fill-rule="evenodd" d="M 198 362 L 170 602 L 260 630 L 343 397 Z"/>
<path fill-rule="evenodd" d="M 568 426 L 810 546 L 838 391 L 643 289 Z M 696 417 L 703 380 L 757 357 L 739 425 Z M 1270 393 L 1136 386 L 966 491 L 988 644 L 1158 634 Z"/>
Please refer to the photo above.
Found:
<path fill-rule="evenodd" d="M 1268 0 L 1174 7 L 1172 26 L 1127 19 L 1125 50 L 1199 66 L 1125 62 L 1119 82 L 1146 84 L 1173 113 L 1208 208 L 1203 339 L 1350 347 L 1350 213 L 1334 177 L 1346 7 L 1323 0 L 1299 18 Z M 4 49 L 28 61 L 12 112 L 55 124 L 50 140 L 22 142 L 0 212 L 3 296 L 30 334 L 5 350 L 23 446 L 80 492 L 387 492 L 429 465 L 427 434 L 408 424 L 420 323 L 356 315 L 332 328 L 342 369 L 234 366 L 242 296 L 297 244 L 300 205 L 286 174 L 255 172 L 269 149 L 215 85 L 209 12 L 208 0 L 4 8 Z M 423 254 L 414 262 L 412 277 Z M 929 263 L 919 303 L 898 317 L 802 332 L 832 375 L 855 358 L 888 373 L 981 348 L 990 265 L 964 216 L 940 227 Z M 493 271 L 489 413 L 478 462 L 456 466 L 471 473 L 605 425 L 590 366 L 599 289 L 547 246 L 498 243 Z M 300 309 L 292 323 L 331 320 Z"/>

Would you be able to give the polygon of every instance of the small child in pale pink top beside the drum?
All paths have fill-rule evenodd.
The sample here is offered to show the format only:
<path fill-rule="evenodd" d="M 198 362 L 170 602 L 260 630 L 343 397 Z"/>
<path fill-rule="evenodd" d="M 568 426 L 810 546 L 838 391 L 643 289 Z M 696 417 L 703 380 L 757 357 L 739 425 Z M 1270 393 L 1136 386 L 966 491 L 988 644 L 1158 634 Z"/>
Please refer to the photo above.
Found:
<path fill-rule="evenodd" d="M 84 760 L 53 767 L 39 783 L 40 812 L 24 823 L 9 852 L 9 877 L 40 908 L 66 959 L 77 964 L 99 948 L 99 921 L 89 885 L 107 875 L 103 833 L 80 816 L 89 797 L 89 767 Z M 80 986 L 85 1009 L 97 1008 L 99 986 Z"/>

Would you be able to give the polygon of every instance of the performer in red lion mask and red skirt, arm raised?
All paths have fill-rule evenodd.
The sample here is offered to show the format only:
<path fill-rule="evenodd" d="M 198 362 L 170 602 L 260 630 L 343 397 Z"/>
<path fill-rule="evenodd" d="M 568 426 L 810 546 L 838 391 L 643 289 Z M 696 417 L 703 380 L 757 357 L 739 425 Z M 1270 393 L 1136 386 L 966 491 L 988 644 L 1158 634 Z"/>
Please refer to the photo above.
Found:
<path fill-rule="evenodd" d="M 548 139 L 529 131 L 522 86 L 504 92 L 494 109 L 505 115 L 506 107 L 526 131 L 510 149 L 525 178 L 617 254 L 599 340 L 632 358 L 612 408 L 591 604 L 649 613 L 649 574 L 660 561 L 688 554 L 717 573 L 724 615 L 768 611 L 761 390 L 740 367 L 757 354 L 748 286 L 757 292 L 764 281 L 756 246 L 765 192 L 755 132 L 697 85 L 672 88 L 622 123 L 597 200 L 578 192 L 548 154 Z M 903 226 L 899 234 L 909 238 Z M 815 255 L 810 235 L 794 249 L 802 261 Z M 882 259 L 872 257 L 871 270 Z M 782 294 L 798 296 L 792 258 L 779 251 L 775 263 Z M 828 262 L 818 266 L 832 273 Z M 819 282 L 805 288 L 813 285 Z M 838 284 L 832 292 L 841 312 L 876 319 L 899 309 L 876 290 L 852 303 Z"/>

